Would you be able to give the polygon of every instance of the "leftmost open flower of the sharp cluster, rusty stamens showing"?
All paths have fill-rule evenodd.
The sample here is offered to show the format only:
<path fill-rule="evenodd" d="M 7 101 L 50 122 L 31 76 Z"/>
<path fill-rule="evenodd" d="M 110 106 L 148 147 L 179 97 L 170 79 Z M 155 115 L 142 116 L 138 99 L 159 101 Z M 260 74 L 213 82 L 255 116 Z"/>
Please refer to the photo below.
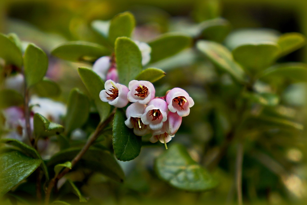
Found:
<path fill-rule="evenodd" d="M 105 90 L 100 91 L 99 97 L 103 102 L 108 102 L 115 107 L 124 107 L 128 104 L 127 94 L 129 89 L 113 80 L 104 83 Z"/>

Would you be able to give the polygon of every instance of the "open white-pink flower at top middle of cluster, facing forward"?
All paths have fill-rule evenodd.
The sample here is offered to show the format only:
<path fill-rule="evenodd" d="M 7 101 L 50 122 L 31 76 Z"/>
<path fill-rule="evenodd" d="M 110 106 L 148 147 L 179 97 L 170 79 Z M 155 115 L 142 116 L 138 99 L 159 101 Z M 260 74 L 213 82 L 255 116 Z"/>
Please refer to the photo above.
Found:
<path fill-rule="evenodd" d="M 132 103 L 147 104 L 154 99 L 155 89 L 149 81 L 131 80 L 128 87 L 128 100 Z"/>

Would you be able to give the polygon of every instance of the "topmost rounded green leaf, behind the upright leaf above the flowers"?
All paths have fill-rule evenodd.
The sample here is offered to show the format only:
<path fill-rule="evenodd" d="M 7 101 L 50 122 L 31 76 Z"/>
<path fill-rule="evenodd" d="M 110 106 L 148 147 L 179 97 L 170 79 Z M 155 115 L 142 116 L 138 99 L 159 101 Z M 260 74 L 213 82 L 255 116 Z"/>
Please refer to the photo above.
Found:
<path fill-rule="evenodd" d="M 135 27 L 135 19 L 130 12 L 117 14 L 111 19 L 109 28 L 109 40 L 112 44 L 118 37 L 130 37 Z"/>

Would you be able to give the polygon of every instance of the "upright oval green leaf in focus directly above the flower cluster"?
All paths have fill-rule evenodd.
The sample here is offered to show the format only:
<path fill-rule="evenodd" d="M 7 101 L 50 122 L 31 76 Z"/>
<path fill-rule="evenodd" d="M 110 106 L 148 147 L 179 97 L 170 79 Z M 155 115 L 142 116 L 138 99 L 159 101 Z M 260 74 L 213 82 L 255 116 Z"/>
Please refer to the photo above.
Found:
<path fill-rule="evenodd" d="M 119 37 L 115 42 L 115 56 L 119 83 L 128 86 L 142 71 L 141 51 L 130 38 Z"/>

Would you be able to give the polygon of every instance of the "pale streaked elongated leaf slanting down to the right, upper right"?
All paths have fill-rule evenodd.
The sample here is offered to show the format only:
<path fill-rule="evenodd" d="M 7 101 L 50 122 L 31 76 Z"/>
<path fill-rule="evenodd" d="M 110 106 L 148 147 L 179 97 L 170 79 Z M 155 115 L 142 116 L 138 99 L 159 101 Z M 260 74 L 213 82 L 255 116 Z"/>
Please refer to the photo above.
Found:
<path fill-rule="evenodd" d="M 223 45 L 201 40 L 197 42 L 196 47 L 219 68 L 230 73 L 239 82 L 244 81 L 243 69 L 233 60 L 231 52 Z"/>

